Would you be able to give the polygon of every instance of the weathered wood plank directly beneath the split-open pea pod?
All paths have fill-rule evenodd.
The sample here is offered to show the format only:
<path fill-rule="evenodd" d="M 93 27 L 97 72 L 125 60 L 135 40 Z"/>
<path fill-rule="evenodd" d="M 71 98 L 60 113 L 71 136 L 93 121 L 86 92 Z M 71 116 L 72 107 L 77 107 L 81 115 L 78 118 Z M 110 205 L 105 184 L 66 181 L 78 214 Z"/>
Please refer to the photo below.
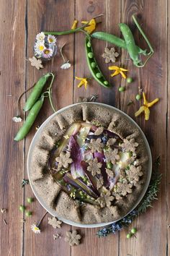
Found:
<path fill-rule="evenodd" d="M 117 10 L 116 12 L 114 10 Z M 89 11 L 93 12 L 89 12 Z M 108 31 L 119 35 L 118 27 L 115 24 L 120 22 L 120 1 L 76 1 L 76 19 L 91 20 L 92 17 L 98 14 L 104 14 L 102 23 L 97 25 L 98 31 Z M 114 17 L 112 16 L 114 13 Z M 99 40 L 92 41 L 94 46 L 94 56 L 97 63 L 107 80 L 110 80 L 112 88 L 107 89 L 98 85 L 95 80 L 90 81 L 87 90 L 77 88 L 78 81 L 74 81 L 74 102 L 81 96 L 89 97 L 92 94 L 99 95 L 98 102 L 106 103 L 112 106 L 119 106 L 119 93 L 117 93 L 116 84 L 120 82 L 120 77 L 115 77 L 114 80 L 109 77 L 108 64 L 104 63 L 102 53 L 107 43 Z M 109 46 L 109 45 L 108 45 Z M 91 77 L 86 64 L 86 55 L 84 51 L 84 35 L 81 33 L 75 36 L 75 75 L 78 77 Z M 117 50 L 119 50 L 117 48 Z M 112 64 L 110 64 L 112 65 Z M 80 229 L 83 235 L 83 243 L 79 247 L 71 248 L 71 255 L 118 255 L 119 234 L 110 236 L 107 239 L 99 239 L 96 236 L 98 229 Z"/>

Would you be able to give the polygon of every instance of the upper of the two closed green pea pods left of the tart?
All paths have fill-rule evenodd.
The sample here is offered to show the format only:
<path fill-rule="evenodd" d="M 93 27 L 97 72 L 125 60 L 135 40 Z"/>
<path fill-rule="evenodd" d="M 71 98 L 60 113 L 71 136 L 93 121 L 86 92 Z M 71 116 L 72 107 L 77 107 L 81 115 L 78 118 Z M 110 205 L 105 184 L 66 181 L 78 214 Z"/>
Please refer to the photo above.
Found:
<path fill-rule="evenodd" d="M 48 77 L 50 77 L 52 73 L 47 73 L 44 76 L 40 77 L 40 80 L 37 81 L 35 84 L 35 87 L 32 90 L 32 93 L 30 96 L 27 98 L 27 101 L 24 105 L 24 111 L 28 111 L 32 108 L 32 106 L 35 104 L 38 98 L 40 98 L 40 95 L 42 93 L 42 89 L 44 88 Z"/>

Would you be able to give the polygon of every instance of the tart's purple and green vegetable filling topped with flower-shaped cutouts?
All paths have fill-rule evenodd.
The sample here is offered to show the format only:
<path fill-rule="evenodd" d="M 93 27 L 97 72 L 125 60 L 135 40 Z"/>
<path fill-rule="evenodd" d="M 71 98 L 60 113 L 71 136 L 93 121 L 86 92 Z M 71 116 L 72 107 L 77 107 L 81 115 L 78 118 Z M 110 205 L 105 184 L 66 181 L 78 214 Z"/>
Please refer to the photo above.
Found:
<path fill-rule="evenodd" d="M 50 153 L 48 173 L 73 200 L 108 207 L 133 193 L 143 176 L 136 148 L 133 139 L 123 140 L 104 127 L 76 122 Z"/>

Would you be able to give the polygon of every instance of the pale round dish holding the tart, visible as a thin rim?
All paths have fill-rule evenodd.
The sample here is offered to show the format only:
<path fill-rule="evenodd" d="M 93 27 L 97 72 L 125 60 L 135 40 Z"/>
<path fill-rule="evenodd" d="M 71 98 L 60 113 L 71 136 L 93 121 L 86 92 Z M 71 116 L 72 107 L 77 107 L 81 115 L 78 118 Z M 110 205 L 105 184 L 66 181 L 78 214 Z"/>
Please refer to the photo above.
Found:
<path fill-rule="evenodd" d="M 48 213 L 50 213 L 52 216 L 55 216 L 58 218 L 55 210 L 49 208 L 42 197 L 40 197 L 38 194 L 37 194 L 37 191 L 34 187 L 34 184 L 31 182 L 31 179 L 30 179 L 30 163 L 32 161 L 32 151 L 33 151 L 33 148 L 35 146 L 35 142 L 37 142 L 37 140 L 39 139 L 40 137 L 40 134 L 42 132 L 42 129 L 45 127 L 46 124 L 48 124 L 48 122 L 50 121 L 50 119 L 52 119 L 56 114 L 58 113 L 61 113 L 62 111 L 66 111 L 66 109 L 70 108 L 71 106 L 76 106 L 76 105 L 79 105 L 81 103 L 76 103 L 76 104 L 73 104 L 73 105 L 70 105 L 70 106 L 66 106 L 64 108 L 61 108 L 60 110 L 58 110 L 56 113 L 52 114 L 51 116 L 48 117 L 48 119 L 46 119 L 43 124 L 40 126 L 40 128 L 37 130 L 37 132 L 35 133 L 35 136 L 33 137 L 32 139 L 32 142 L 30 144 L 30 148 L 29 148 L 29 151 L 28 151 L 28 155 L 27 155 L 27 174 L 28 174 L 28 177 L 29 177 L 29 180 L 30 180 L 30 186 L 32 188 L 32 191 L 33 193 L 35 194 L 35 197 L 37 198 L 37 200 L 40 202 L 40 204 L 42 205 L 43 208 L 45 208 L 45 210 L 48 211 Z M 88 104 L 88 103 L 86 103 Z M 152 172 L 152 157 L 151 157 L 151 150 L 150 150 L 150 147 L 148 145 L 148 141 L 146 140 L 146 136 L 144 135 L 143 131 L 140 129 L 140 127 L 138 126 L 138 124 L 135 123 L 135 121 L 133 121 L 133 119 L 131 119 L 130 116 L 128 116 L 127 114 L 125 114 L 124 112 L 120 111 L 120 109 L 117 109 L 115 107 L 112 107 L 112 106 L 109 106 L 107 104 L 103 104 L 103 103 L 95 103 L 99 106 L 105 106 L 107 108 L 111 108 L 111 109 L 114 109 L 115 111 L 117 111 L 118 113 L 120 113 L 121 115 L 123 116 L 126 116 L 128 118 L 128 120 L 130 122 L 132 122 L 135 127 L 138 127 L 139 131 L 140 131 L 140 134 L 141 136 L 143 137 L 143 140 L 146 144 L 146 150 L 147 150 L 147 153 L 148 153 L 148 173 L 147 173 L 147 180 L 146 180 L 146 184 L 145 186 L 143 187 L 143 192 L 140 194 L 140 197 L 138 197 L 138 201 L 135 203 L 135 205 L 133 205 L 133 208 L 130 209 L 129 213 L 135 209 L 137 207 L 137 205 L 139 204 L 139 202 L 142 200 L 143 196 L 146 194 L 146 190 L 148 189 L 148 185 L 149 185 L 149 182 L 150 182 L 150 179 L 151 179 L 151 172 Z M 127 213 L 128 215 L 128 213 Z M 122 216 L 122 218 L 124 218 L 125 216 Z M 116 222 L 116 221 L 112 221 L 112 222 L 107 222 L 107 223 L 97 223 L 97 224 L 82 224 L 82 223 L 76 223 L 76 222 L 73 222 L 73 221 L 69 221 L 65 218 L 59 218 L 61 221 L 63 221 L 64 223 L 67 223 L 68 225 L 71 225 L 71 226 L 77 226 L 77 227 L 80 227 L 80 228 L 99 228 L 99 227 L 102 227 L 102 226 L 107 226 L 113 222 Z M 120 218 L 121 219 L 121 218 Z M 117 219 L 117 221 L 119 221 L 120 219 Z"/>

